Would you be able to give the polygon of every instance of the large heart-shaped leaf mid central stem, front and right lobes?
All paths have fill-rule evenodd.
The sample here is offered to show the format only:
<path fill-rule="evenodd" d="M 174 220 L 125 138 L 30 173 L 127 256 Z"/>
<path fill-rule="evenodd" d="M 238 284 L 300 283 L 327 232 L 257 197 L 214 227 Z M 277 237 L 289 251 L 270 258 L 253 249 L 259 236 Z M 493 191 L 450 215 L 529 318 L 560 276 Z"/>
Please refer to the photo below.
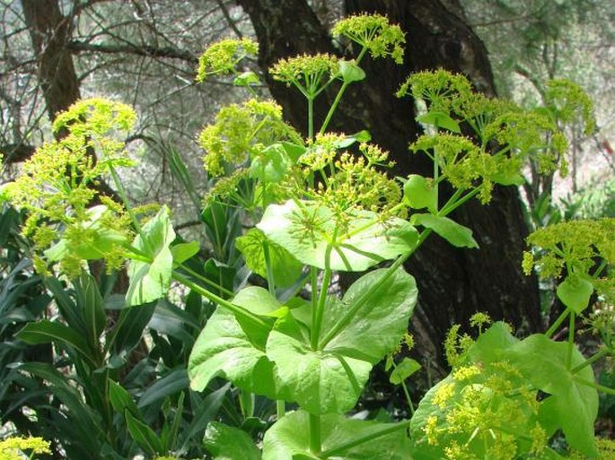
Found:
<path fill-rule="evenodd" d="M 400 343 L 416 300 L 414 279 L 403 270 L 365 274 L 343 299 L 329 298 L 316 351 L 304 326 L 308 315 L 303 307 L 292 308 L 267 343 L 286 400 L 311 413 L 352 409 L 373 364 Z"/>

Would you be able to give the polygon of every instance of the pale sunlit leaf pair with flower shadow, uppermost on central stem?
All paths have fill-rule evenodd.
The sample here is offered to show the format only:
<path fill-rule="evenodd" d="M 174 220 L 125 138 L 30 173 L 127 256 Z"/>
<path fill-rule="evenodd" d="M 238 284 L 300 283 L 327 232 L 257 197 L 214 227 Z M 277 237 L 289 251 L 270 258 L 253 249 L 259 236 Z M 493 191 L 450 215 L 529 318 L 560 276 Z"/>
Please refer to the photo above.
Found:
<path fill-rule="evenodd" d="M 303 264 L 324 269 L 328 247 L 333 270 L 364 271 L 390 260 L 417 244 L 417 230 L 407 221 L 391 218 L 380 221 L 376 213 L 356 211 L 350 216 L 347 232 L 336 235 L 335 214 L 328 207 L 289 200 L 271 204 L 257 227 L 268 239 L 284 247 Z"/>

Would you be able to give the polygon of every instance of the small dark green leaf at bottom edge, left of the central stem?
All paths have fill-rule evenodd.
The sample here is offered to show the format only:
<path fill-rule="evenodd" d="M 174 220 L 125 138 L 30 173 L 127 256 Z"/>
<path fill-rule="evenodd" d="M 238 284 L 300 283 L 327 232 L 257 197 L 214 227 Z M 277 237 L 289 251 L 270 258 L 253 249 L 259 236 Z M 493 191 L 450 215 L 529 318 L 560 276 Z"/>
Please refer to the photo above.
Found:
<path fill-rule="evenodd" d="M 219 421 L 210 421 L 203 438 L 215 460 L 260 460 L 260 451 L 248 433 Z"/>

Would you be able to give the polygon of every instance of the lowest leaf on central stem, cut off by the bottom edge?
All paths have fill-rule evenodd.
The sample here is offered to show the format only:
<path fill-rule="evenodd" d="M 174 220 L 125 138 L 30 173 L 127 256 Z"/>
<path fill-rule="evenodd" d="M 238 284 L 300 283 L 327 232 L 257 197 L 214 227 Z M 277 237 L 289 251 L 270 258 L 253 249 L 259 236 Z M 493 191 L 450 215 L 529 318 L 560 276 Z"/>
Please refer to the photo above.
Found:
<path fill-rule="evenodd" d="M 408 423 L 381 423 L 321 417 L 322 454 L 310 449 L 310 414 L 292 412 L 274 423 L 263 439 L 263 460 L 335 458 L 336 460 L 410 460 Z"/>

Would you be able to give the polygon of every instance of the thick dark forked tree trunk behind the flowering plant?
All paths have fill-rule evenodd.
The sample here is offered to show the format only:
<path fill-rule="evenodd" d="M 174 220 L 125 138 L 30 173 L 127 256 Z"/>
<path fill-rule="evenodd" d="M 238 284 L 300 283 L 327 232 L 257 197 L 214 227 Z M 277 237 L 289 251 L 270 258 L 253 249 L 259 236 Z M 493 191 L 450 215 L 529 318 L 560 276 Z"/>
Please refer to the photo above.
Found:
<path fill-rule="evenodd" d="M 263 68 L 303 52 L 339 54 L 305 0 L 238 0 L 238 4 L 249 13 L 256 30 Z M 430 176 L 431 164 L 408 152 L 408 143 L 420 131 L 413 104 L 393 93 L 411 72 L 443 67 L 466 74 L 479 91 L 493 95 L 486 49 L 467 25 L 457 0 L 347 0 L 346 10 L 386 14 L 407 32 L 407 52 L 404 65 L 367 59 L 362 65 L 367 81 L 349 88 L 331 128 L 350 133 L 366 128 L 397 161 L 395 174 Z M 270 79 L 268 84 L 291 123 L 305 126 L 304 101 L 284 85 Z M 321 103 L 326 102 L 322 98 Z M 442 342 L 448 328 L 467 323 L 477 310 L 525 330 L 540 329 L 536 280 L 521 273 L 527 228 L 517 190 L 498 187 L 491 204 L 472 201 L 453 218 L 474 230 L 480 249 L 455 249 L 434 236 L 407 264 L 420 290 L 412 328 L 421 355 L 431 355 L 436 370 L 444 369 Z"/>

